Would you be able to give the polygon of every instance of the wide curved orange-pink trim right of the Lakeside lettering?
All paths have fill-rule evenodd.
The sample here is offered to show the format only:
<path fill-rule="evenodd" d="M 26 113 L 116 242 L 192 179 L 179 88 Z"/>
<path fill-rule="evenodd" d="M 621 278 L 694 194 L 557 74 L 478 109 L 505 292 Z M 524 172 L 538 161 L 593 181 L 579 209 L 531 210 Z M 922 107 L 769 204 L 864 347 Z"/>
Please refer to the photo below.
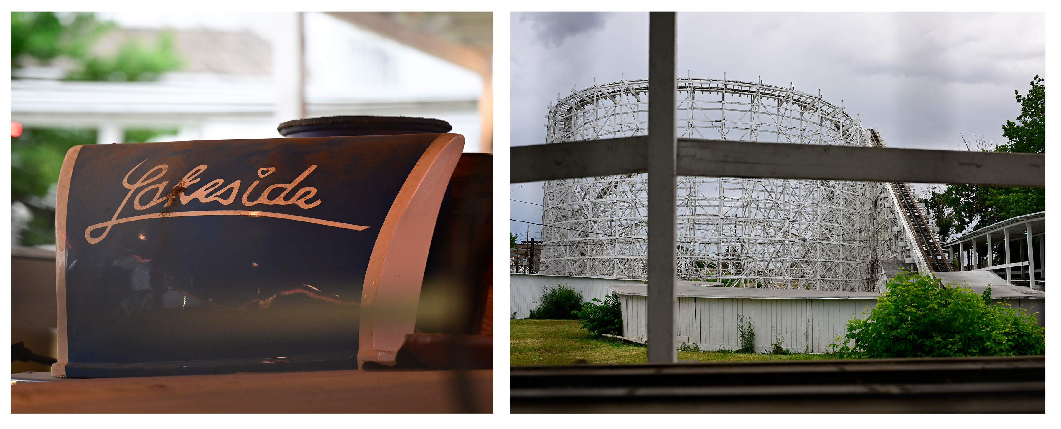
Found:
<path fill-rule="evenodd" d="M 405 335 L 413 334 L 431 237 L 464 143 L 464 136 L 439 135 L 387 212 L 365 271 L 358 368 L 365 361 L 394 361 Z"/>

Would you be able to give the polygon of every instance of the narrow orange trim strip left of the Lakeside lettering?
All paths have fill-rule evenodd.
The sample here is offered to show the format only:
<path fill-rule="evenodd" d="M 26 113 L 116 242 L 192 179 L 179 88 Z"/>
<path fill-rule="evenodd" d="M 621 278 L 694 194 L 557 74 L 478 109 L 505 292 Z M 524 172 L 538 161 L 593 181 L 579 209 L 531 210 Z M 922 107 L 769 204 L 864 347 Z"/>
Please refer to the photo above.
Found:
<path fill-rule="evenodd" d="M 73 164 L 77 161 L 77 154 L 83 146 L 73 146 L 67 150 L 66 158 L 63 159 L 63 167 L 59 169 L 59 181 L 55 195 L 55 330 L 57 337 L 57 354 L 55 358 L 58 362 L 52 363 L 53 377 L 66 377 L 66 364 L 70 361 L 70 350 L 67 346 L 67 318 L 66 318 L 66 212 L 67 202 L 70 199 L 70 175 L 73 174 Z"/>

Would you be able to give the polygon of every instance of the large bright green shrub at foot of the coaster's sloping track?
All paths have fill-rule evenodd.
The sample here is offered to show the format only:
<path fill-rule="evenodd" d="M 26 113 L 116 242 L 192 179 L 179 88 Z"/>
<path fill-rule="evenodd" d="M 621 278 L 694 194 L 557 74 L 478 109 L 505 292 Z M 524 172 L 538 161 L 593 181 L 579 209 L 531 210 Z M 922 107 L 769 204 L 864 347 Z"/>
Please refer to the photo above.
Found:
<path fill-rule="evenodd" d="M 930 275 L 900 273 L 888 282 L 866 320 L 848 322 L 837 337 L 841 358 L 1040 355 L 1045 329 L 1008 304 L 990 305 L 967 288 L 941 286 Z"/>

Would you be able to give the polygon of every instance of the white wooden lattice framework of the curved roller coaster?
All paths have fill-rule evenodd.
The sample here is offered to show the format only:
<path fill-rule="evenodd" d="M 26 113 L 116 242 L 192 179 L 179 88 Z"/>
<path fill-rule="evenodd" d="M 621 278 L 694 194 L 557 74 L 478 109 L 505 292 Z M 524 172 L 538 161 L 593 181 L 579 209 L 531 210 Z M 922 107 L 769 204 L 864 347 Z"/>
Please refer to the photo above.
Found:
<path fill-rule="evenodd" d="M 871 145 L 842 102 L 820 94 L 761 81 L 679 78 L 677 87 L 679 138 Z M 572 88 L 549 107 L 546 143 L 646 135 L 647 103 L 646 79 Z M 646 177 L 546 181 L 541 273 L 644 279 Z M 884 281 L 879 262 L 905 256 L 884 183 L 679 177 L 677 200 L 683 280 L 872 291 Z"/>

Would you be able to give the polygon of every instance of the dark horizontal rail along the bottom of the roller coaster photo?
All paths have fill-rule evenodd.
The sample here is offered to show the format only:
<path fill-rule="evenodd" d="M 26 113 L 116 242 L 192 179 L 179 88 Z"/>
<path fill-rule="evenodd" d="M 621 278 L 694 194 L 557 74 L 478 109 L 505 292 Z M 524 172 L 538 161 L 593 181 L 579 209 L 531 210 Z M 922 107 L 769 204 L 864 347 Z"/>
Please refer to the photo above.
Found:
<path fill-rule="evenodd" d="M 1045 412 L 1045 356 L 512 367 L 512 413 Z"/>

